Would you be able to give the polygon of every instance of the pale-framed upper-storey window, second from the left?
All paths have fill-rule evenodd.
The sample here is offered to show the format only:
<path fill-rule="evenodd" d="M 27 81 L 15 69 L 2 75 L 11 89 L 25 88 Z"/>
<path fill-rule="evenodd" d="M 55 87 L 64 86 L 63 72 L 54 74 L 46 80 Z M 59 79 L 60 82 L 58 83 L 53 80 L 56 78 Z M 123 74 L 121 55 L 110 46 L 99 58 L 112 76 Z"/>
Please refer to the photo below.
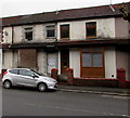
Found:
<path fill-rule="evenodd" d="M 50 25 L 46 27 L 47 29 L 47 38 L 55 38 L 55 26 Z"/>

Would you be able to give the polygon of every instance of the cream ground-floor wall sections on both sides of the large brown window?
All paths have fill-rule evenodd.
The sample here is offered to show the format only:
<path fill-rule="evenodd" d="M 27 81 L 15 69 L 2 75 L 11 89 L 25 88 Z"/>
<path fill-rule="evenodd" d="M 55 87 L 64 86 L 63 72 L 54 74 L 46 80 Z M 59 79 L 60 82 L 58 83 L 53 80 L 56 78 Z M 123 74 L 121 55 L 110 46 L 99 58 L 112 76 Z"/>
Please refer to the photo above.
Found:
<path fill-rule="evenodd" d="M 116 78 L 116 51 L 112 47 L 105 49 L 105 78 Z M 80 78 L 80 51 L 77 49 L 69 50 L 69 66 L 74 68 L 74 77 Z"/>

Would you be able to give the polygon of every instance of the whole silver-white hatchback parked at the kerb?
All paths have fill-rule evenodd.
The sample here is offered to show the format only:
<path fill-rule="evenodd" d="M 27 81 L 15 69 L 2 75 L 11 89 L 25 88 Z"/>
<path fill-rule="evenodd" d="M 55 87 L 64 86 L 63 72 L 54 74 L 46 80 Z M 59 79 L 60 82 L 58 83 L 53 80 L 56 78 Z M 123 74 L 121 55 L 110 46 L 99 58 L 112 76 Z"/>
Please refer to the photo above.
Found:
<path fill-rule="evenodd" d="M 34 87 L 39 91 L 57 90 L 57 81 L 51 77 L 41 76 L 32 69 L 13 68 L 3 74 L 2 84 L 5 89 L 12 86 Z"/>

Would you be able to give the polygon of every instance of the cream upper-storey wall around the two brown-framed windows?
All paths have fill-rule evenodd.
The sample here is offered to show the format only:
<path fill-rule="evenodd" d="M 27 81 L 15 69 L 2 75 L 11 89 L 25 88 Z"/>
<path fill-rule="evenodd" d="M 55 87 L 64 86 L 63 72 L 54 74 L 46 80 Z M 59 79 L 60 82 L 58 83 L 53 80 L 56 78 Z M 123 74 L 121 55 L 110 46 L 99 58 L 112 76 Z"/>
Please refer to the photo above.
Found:
<path fill-rule="evenodd" d="M 96 22 L 98 38 L 114 38 L 115 37 L 115 18 L 89 19 L 76 22 L 57 23 L 57 39 L 60 40 L 60 25 L 69 24 L 69 39 L 84 40 L 86 39 L 86 23 Z"/>

